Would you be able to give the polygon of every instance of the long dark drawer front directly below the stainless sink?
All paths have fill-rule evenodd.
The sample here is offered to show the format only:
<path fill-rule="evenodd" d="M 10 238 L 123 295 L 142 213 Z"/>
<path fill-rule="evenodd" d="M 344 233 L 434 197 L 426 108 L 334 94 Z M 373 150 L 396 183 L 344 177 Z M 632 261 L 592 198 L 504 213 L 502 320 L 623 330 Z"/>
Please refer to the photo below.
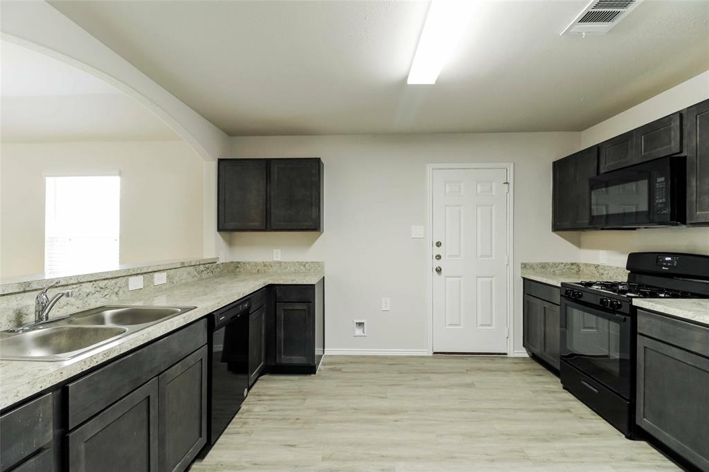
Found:
<path fill-rule="evenodd" d="M 77 427 L 206 343 L 207 322 L 200 320 L 69 383 L 66 386 L 69 429 Z"/>

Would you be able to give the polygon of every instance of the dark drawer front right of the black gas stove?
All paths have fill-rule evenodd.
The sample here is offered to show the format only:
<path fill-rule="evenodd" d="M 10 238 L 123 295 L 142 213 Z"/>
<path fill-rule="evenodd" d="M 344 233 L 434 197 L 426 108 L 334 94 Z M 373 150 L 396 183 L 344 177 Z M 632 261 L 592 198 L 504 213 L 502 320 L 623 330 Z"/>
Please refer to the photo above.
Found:
<path fill-rule="evenodd" d="M 709 357 L 709 327 L 637 310 L 637 332 Z"/>

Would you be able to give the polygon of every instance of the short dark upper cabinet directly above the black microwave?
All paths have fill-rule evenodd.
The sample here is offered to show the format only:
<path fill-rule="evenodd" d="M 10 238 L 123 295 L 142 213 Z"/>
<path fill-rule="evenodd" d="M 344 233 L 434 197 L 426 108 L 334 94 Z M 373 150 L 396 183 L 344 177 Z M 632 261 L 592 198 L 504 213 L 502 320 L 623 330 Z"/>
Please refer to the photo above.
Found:
<path fill-rule="evenodd" d="M 601 173 L 682 152 L 682 113 L 654 120 L 601 142 Z"/>

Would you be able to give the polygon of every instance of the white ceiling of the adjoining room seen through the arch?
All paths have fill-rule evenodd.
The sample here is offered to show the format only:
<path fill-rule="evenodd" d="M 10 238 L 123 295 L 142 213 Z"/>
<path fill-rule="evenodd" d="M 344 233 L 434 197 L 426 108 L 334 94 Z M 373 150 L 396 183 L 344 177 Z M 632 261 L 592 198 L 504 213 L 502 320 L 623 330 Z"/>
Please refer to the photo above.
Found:
<path fill-rule="evenodd" d="M 3 142 L 177 140 L 140 103 L 64 62 L 0 42 Z"/>

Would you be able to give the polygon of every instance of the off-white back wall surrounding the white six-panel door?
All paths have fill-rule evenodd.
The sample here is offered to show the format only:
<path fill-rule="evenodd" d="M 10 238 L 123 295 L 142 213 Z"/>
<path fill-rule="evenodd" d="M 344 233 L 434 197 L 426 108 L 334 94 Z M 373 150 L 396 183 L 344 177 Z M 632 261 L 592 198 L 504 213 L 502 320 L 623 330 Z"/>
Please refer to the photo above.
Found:
<path fill-rule="evenodd" d="M 426 164 L 515 164 L 515 350 L 521 351 L 520 262 L 573 261 L 576 245 L 551 232 L 551 162 L 579 146 L 579 133 L 235 137 L 232 157 L 321 157 L 325 231 L 235 232 L 228 259 L 325 262 L 328 349 L 427 349 Z M 427 225 L 428 226 L 428 225 Z M 427 228 L 428 230 L 428 228 Z M 225 235 L 229 236 L 228 233 Z M 578 235 L 571 235 L 578 237 Z M 381 311 L 381 297 L 391 311 Z M 352 320 L 368 322 L 352 337 Z"/>

